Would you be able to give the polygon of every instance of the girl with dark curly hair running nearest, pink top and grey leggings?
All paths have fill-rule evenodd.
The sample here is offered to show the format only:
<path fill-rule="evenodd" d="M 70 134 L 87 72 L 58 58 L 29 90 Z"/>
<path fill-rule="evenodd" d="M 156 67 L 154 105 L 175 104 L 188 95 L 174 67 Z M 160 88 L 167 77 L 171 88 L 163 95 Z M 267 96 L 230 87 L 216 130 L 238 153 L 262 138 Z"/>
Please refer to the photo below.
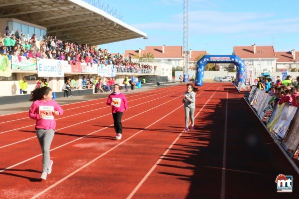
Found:
<path fill-rule="evenodd" d="M 41 179 L 47 179 L 52 172 L 53 160 L 50 159 L 50 145 L 54 137 L 56 122 L 54 115 L 62 115 L 62 108 L 52 100 L 52 89 L 44 86 L 31 92 L 30 101 L 33 101 L 29 117 L 36 120 L 36 136 L 43 153 L 43 171 Z"/>

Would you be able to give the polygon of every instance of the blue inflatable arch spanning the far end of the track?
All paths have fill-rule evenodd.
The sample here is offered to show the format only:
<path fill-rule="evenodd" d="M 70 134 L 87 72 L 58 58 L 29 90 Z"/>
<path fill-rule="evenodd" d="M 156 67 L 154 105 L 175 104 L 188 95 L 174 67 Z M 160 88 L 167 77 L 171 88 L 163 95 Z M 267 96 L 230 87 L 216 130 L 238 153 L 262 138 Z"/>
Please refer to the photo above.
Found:
<path fill-rule="evenodd" d="M 237 81 L 244 82 L 245 63 L 237 55 L 205 55 L 196 63 L 195 86 L 203 86 L 205 66 L 209 63 L 235 64 L 237 66 Z"/>

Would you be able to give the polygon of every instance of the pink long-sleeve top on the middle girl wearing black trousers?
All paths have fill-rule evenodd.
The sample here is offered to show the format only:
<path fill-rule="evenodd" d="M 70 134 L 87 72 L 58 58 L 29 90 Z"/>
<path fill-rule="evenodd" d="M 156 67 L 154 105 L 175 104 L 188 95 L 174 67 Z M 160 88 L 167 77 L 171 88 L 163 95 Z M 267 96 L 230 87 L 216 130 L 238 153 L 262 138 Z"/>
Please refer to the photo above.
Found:
<path fill-rule="evenodd" d="M 114 102 L 114 105 L 111 106 L 111 103 Z M 124 112 L 124 109 L 128 109 L 128 101 L 123 93 L 111 93 L 107 99 L 107 105 L 112 107 L 112 112 Z"/>

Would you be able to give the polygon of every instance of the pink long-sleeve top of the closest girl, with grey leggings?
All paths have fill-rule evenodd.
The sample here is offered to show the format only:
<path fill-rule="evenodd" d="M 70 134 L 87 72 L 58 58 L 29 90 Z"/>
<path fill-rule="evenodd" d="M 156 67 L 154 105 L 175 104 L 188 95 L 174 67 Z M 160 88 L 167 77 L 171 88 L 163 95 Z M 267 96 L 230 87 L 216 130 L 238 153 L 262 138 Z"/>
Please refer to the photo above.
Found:
<path fill-rule="evenodd" d="M 54 111 L 58 111 L 59 115 L 63 114 L 62 108 L 56 101 L 42 101 L 36 100 L 32 103 L 29 109 L 29 117 L 36 120 L 35 128 L 54 129 L 56 128 L 56 121 L 54 118 Z M 46 113 L 45 118 L 41 118 L 41 112 Z"/>

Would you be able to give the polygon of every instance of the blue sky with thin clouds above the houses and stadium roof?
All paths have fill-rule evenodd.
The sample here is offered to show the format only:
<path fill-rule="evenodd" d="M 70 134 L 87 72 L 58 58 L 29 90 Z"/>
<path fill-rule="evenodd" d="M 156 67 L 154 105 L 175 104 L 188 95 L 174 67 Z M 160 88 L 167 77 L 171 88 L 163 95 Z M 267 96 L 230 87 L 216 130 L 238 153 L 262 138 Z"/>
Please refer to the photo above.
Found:
<path fill-rule="evenodd" d="M 99 46 L 110 53 L 145 46 L 183 46 L 183 0 L 104 1 L 143 38 Z M 299 0 L 189 0 L 188 47 L 231 55 L 233 46 L 273 46 L 299 51 Z"/>

